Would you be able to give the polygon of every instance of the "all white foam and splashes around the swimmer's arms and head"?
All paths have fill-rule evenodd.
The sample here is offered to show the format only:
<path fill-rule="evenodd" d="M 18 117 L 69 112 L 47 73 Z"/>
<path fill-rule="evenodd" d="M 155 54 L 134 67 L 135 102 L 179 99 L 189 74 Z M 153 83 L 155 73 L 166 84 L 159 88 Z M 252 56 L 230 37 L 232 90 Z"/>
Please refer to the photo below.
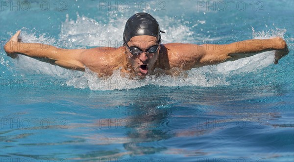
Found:
<path fill-rule="evenodd" d="M 65 22 L 62 23 L 61 32 L 59 37 L 61 40 L 69 41 L 69 47 L 81 48 L 81 46 L 99 46 L 99 40 L 112 40 L 120 42 L 122 41 L 122 33 L 124 23 L 127 18 L 120 19 L 120 16 L 114 17 L 117 13 L 110 13 L 108 23 L 101 23 L 94 19 L 87 18 L 85 16 L 79 16 L 77 14 L 76 20 L 72 20 L 67 15 Z M 189 27 L 185 24 L 175 22 L 168 17 L 163 18 L 165 21 L 159 23 L 162 24 L 162 28 L 169 31 L 163 34 L 163 40 L 166 42 L 188 42 L 193 43 L 193 27 Z M 198 25 L 204 24 L 205 21 L 198 21 Z M 254 28 L 253 38 L 267 39 L 275 36 L 283 37 L 286 30 L 276 29 L 270 31 L 255 32 Z M 37 37 L 36 32 L 23 30 L 22 39 L 32 41 L 37 40 L 39 42 L 48 41 L 53 45 L 56 41 L 55 38 L 50 38 L 45 34 L 39 34 Z M 202 38 L 205 40 L 205 38 Z M 213 39 L 213 38 L 212 38 Z M 221 39 L 221 38 L 216 38 Z M 119 46 L 119 44 L 117 44 Z M 120 70 L 114 71 L 113 75 L 108 79 L 98 78 L 95 72 L 86 69 L 85 72 L 73 71 L 69 69 L 63 69 L 57 66 L 50 65 L 34 60 L 29 57 L 20 56 L 18 61 L 14 60 L 14 64 L 19 69 L 25 70 L 26 74 L 47 74 L 57 78 L 63 78 L 67 80 L 68 86 L 74 88 L 89 88 L 91 90 L 114 90 L 114 89 L 133 89 L 144 87 L 148 85 L 177 87 L 177 86 L 200 86 L 200 87 L 215 87 L 215 86 L 227 86 L 230 85 L 231 80 L 229 76 L 240 75 L 251 71 L 256 71 L 268 67 L 273 63 L 274 52 L 263 52 L 252 57 L 239 59 L 234 62 L 225 62 L 219 65 L 204 66 L 201 68 L 195 68 L 183 73 L 179 76 L 147 76 L 145 79 L 129 79 L 121 77 Z M 1 61 L 3 62 L 3 61 Z"/>

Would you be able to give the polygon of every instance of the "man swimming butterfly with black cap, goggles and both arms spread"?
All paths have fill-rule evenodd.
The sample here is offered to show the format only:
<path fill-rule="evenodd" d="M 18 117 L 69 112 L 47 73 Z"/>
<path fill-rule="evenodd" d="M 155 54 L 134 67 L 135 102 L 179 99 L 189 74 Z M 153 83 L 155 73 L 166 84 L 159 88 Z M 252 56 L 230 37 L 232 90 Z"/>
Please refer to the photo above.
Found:
<path fill-rule="evenodd" d="M 114 70 L 130 76 L 146 76 L 155 68 L 168 71 L 173 68 L 192 68 L 233 61 L 258 52 L 276 50 L 274 63 L 288 54 L 286 42 L 276 37 L 264 40 L 246 40 L 228 45 L 160 44 L 162 32 L 157 21 L 147 13 L 130 17 L 123 32 L 124 45 L 118 48 L 60 49 L 42 44 L 18 42 L 18 31 L 4 46 L 7 55 L 16 58 L 23 54 L 67 69 L 90 70 L 99 77 L 111 76 Z M 42 48 L 43 46 L 43 48 Z"/>

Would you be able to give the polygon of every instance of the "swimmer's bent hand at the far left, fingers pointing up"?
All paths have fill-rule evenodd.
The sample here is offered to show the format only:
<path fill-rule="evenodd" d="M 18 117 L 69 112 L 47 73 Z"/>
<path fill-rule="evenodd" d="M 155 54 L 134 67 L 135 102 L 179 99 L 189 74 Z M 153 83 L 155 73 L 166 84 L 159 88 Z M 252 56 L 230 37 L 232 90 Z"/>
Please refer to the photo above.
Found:
<path fill-rule="evenodd" d="M 7 53 L 7 56 L 11 58 L 17 58 L 17 49 L 19 48 L 18 42 L 21 40 L 18 39 L 18 36 L 20 35 L 21 31 L 17 31 L 11 38 L 10 40 L 6 43 L 4 46 L 4 50 Z"/>

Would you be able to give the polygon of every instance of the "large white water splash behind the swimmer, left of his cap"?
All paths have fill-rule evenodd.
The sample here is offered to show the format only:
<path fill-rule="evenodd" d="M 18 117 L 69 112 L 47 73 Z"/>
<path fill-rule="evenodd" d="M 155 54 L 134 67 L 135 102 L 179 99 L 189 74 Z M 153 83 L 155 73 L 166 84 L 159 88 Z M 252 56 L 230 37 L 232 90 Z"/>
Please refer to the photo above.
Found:
<path fill-rule="evenodd" d="M 74 46 L 112 46 L 122 45 L 123 29 L 126 18 L 114 16 L 108 23 L 97 22 L 77 13 L 76 20 L 72 20 L 66 15 L 66 20 L 61 25 L 60 39 L 66 40 Z"/>

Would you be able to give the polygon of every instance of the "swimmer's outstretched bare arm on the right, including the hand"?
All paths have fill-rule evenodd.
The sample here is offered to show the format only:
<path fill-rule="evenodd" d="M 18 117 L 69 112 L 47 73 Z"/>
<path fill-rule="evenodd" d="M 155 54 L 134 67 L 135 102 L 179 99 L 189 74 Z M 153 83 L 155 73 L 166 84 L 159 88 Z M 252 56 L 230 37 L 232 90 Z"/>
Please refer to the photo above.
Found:
<path fill-rule="evenodd" d="M 218 64 L 270 50 L 276 50 L 275 64 L 289 52 L 286 42 L 280 37 L 262 40 L 252 39 L 227 45 L 203 45 L 200 49 L 203 55 L 199 63 L 204 65 Z"/>

